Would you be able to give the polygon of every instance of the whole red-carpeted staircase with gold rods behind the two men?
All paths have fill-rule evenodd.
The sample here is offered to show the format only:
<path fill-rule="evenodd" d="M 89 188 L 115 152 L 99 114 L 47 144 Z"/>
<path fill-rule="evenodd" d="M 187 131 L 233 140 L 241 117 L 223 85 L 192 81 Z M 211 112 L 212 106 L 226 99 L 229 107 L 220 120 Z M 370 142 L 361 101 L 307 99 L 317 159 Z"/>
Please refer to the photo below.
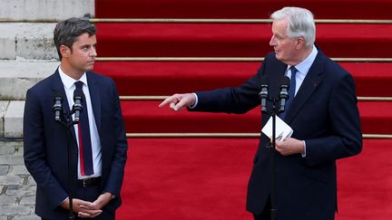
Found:
<path fill-rule="evenodd" d="M 116 81 L 130 137 L 117 219 L 252 219 L 245 197 L 260 108 L 175 113 L 158 104 L 250 78 L 271 51 L 264 19 L 285 5 L 320 19 L 316 43 L 357 82 L 364 148 L 338 161 L 337 219 L 392 216 L 392 1 L 95 0 L 95 72 Z"/>

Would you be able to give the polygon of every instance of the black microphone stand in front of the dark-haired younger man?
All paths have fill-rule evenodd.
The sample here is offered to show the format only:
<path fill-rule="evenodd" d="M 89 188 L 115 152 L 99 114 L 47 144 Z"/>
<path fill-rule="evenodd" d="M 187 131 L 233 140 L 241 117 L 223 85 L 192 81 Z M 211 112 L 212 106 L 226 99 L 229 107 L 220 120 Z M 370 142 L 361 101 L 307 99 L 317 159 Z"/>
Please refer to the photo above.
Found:
<path fill-rule="evenodd" d="M 67 141 L 67 151 L 68 151 L 68 198 L 69 198 L 69 214 L 68 214 L 68 219 L 73 220 L 74 215 L 73 215 L 73 186 L 74 182 L 73 180 L 75 179 L 74 173 L 73 173 L 73 145 L 72 143 L 75 142 L 73 141 L 73 125 L 79 123 L 79 120 L 72 120 L 72 115 L 74 113 L 73 110 L 70 111 L 69 114 L 64 112 L 63 107 L 62 107 L 63 114 L 61 114 L 60 119 L 55 118 L 55 121 L 58 123 L 61 123 L 64 125 L 64 128 L 67 130 L 66 134 L 66 141 Z"/>

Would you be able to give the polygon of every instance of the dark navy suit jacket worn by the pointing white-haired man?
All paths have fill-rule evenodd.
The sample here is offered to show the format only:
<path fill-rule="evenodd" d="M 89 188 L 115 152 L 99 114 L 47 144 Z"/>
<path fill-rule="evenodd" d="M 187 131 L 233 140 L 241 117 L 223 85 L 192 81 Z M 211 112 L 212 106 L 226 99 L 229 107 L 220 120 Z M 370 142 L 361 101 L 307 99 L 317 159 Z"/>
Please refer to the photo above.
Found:
<path fill-rule="evenodd" d="M 236 88 L 197 92 L 199 111 L 245 113 L 260 105 L 260 78 L 270 79 L 269 93 L 279 93 L 279 78 L 287 65 L 269 53 L 259 72 Z M 268 105 L 271 110 L 271 104 Z M 262 114 L 261 128 L 270 116 Z M 286 121 L 292 138 L 306 141 L 306 158 L 300 154 L 276 157 L 276 205 L 278 220 L 330 220 L 337 210 L 336 159 L 357 155 L 362 133 L 355 82 L 336 62 L 319 51 Z M 261 129 L 260 128 L 260 129 Z M 254 158 L 247 209 L 260 214 L 271 193 L 270 139 L 260 137 Z"/>

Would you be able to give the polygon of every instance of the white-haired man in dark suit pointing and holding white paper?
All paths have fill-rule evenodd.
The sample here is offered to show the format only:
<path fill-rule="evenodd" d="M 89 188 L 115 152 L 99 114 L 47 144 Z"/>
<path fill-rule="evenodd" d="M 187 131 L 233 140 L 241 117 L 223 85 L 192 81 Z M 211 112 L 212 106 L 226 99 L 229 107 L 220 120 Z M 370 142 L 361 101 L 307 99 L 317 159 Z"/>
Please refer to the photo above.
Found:
<path fill-rule="evenodd" d="M 276 219 L 331 220 L 337 210 L 336 159 L 357 155 L 362 134 L 352 76 L 314 45 L 316 25 L 309 10 L 285 7 L 271 14 L 269 53 L 259 72 L 235 88 L 174 94 L 162 101 L 172 110 L 245 113 L 260 105 L 262 79 L 277 98 L 279 81 L 291 78 L 292 100 L 279 115 L 294 130 L 276 142 L 272 171 L 270 138 L 261 135 L 254 158 L 247 210 L 254 219 L 270 219 L 272 172 L 276 173 Z M 293 69 L 293 68 L 295 69 Z M 293 84 L 295 82 L 295 84 Z M 287 102 L 289 102 L 288 100 Z M 289 108 L 289 109 L 288 109 Z M 272 104 L 267 104 L 271 111 Z M 262 127 L 270 116 L 262 114 Z"/>

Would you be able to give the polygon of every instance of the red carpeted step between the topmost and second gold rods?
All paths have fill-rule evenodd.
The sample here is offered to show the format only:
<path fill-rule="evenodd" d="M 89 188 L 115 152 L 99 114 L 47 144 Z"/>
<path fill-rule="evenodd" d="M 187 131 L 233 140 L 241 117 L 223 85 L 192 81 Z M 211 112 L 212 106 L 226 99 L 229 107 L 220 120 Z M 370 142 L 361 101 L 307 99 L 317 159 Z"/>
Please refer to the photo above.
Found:
<path fill-rule="evenodd" d="M 271 51 L 270 24 L 96 25 L 101 57 L 262 57 Z M 317 28 L 316 43 L 329 57 L 389 57 L 392 51 L 390 24 Z"/>

